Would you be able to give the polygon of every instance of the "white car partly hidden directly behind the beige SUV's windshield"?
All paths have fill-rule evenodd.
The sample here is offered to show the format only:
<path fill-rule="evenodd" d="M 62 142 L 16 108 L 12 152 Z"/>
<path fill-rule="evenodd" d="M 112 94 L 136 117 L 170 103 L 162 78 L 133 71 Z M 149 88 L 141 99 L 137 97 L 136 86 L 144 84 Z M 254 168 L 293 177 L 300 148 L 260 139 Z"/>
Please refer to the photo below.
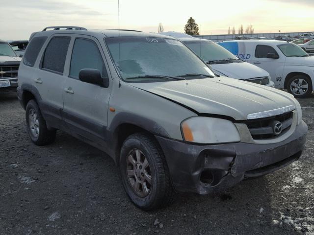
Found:
<path fill-rule="evenodd" d="M 194 38 L 188 34 L 180 32 L 172 31 L 162 32 L 159 34 L 179 39 L 221 76 L 232 77 L 268 87 L 274 87 L 274 83 L 271 81 L 267 71 L 244 62 L 217 43 L 206 39 Z"/>

